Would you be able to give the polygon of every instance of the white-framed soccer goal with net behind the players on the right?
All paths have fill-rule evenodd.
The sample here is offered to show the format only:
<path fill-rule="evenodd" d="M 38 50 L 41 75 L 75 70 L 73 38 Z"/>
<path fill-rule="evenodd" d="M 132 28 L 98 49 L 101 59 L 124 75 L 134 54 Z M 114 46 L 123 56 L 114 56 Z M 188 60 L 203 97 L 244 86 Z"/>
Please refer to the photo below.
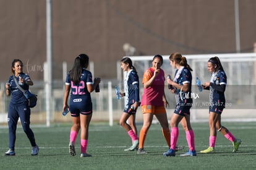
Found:
<path fill-rule="evenodd" d="M 184 55 L 192 67 L 192 93 L 194 103 L 192 105 L 192 121 L 208 121 L 209 91 L 198 91 L 195 78 L 201 82 L 210 81 L 210 73 L 207 70 L 207 61 L 210 57 L 218 56 L 224 71 L 228 77 L 226 87 L 226 109 L 224 109 L 223 121 L 256 121 L 256 53 L 234 53 L 234 54 L 195 54 Z M 151 67 L 153 56 L 131 56 L 139 77 Z M 165 74 L 174 77 L 175 70 L 169 64 L 169 56 L 163 56 L 164 63 L 161 69 Z M 141 88 L 142 89 L 142 88 Z M 170 107 L 167 108 L 168 116 L 173 113 L 176 101 L 174 95 L 165 88 L 166 97 Z"/>

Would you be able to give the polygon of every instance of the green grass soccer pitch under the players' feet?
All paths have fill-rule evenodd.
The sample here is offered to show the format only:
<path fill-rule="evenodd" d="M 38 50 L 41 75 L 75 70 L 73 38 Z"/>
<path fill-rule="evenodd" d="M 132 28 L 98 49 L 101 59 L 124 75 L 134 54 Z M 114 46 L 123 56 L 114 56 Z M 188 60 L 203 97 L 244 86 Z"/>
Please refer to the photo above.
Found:
<path fill-rule="evenodd" d="M 89 129 L 87 152 L 92 157 L 80 158 L 80 136 L 76 141 L 76 156 L 69 155 L 69 130 L 71 124 L 54 124 L 38 127 L 32 124 L 36 142 L 40 147 L 38 156 L 31 156 L 31 147 L 22 128 L 17 129 L 16 156 L 4 156 L 8 149 L 8 129 L 0 129 L 0 169 L 256 169 L 256 126 L 255 122 L 223 122 L 242 144 L 237 153 L 233 145 L 218 132 L 215 153 L 200 154 L 208 147 L 209 129 L 207 123 L 192 123 L 195 134 L 197 156 L 181 157 L 187 142 L 185 132 L 179 127 L 178 144 L 184 150 L 175 157 L 164 157 L 168 146 L 159 124 L 152 124 L 145 140 L 147 155 L 137 151 L 124 151 L 131 141 L 126 131 L 115 124 L 92 122 Z M 19 124 L 20 125 L 20 124 Z M 141 124 L 137 125 L 140 131 Z"/>

